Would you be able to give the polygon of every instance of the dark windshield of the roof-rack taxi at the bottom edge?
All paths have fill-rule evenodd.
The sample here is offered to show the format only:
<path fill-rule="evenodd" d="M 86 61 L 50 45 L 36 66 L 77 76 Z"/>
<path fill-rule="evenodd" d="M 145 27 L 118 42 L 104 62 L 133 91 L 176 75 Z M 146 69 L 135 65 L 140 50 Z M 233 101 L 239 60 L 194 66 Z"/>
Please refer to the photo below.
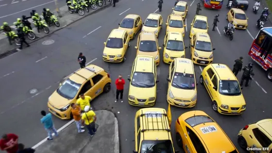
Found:
<path fill-rule="evenodd" d="M 139 153 L 174 153 L 170 140 L 143 140 Z"/>

